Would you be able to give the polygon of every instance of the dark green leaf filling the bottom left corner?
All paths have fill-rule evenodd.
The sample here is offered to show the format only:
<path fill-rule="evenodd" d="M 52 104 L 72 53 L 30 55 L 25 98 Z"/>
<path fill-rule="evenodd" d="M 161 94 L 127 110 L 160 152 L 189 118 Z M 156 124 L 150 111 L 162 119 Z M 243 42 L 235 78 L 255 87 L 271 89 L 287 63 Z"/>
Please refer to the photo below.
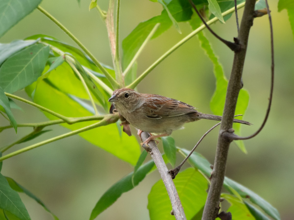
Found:
<path fill-rule="evenodd" d="M 9 211 L 21 220 L 31 219 L 19 194 L 9 186 L 5 177 L 0 174 L 0 208 Z"/>

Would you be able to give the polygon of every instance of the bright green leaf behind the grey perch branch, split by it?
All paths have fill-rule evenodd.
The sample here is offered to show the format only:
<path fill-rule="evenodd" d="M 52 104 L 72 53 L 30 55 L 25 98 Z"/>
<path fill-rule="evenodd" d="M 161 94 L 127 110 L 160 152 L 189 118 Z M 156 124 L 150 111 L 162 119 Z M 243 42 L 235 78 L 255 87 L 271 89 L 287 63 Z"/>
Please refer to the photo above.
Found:
<path fill-rule="evenodd" d="M 173 180 L 185 210 L 187 219 L 191 219 L 202 209 L 207 197 L 207 180 L 194 168 L 188 168 L 178 173 Z M 193 198 L 193 199 L 191 199 Z M 175 219 L 170 214 L 172 207 L 168 193 L 160 180 L 153 185 L 148 195 L 148 206 L 150 219 Z"/>

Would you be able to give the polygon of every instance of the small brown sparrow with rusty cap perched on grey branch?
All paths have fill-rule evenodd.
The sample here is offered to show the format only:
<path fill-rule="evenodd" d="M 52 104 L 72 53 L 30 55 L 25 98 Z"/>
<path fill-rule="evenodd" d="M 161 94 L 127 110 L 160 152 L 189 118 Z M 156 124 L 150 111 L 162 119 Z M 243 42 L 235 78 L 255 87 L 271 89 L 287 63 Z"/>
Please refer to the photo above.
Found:
<path fill-rule="evenodd" d="M 147 138 L 143 142 L 145 144 L 155 138 L 171 135 L 173 130 L 182 128 L 184 123 L 199 119 L 220 121 L 222 118 L 198 112 L 193 106 L 176 99 L 155 94 L 142 94 L 127 88 L 116 89 L 108 101 L 113 102 L 118 113 L 139 129 L 140 138 L 143 131 L 158 133 Z M 238 119 L 234 119 L 234 122 L 250 125 L 249 122 Z"/>

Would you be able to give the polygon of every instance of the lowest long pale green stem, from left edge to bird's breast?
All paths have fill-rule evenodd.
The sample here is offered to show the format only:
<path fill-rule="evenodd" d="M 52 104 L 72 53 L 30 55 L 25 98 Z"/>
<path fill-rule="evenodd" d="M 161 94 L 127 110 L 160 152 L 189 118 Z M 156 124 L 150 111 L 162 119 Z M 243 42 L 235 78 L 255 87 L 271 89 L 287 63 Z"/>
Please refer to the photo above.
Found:
<path fill-rule="evenodd" d="M 11 157 L 13 157 L 15 155 L 18 155 L 20 153 L 24 153 L 24 152 L 26 152 L 28 150 L 32 150 L 34 148 L 37 148 L 39 146 L 42 146 L 44 144 L 48 144 L 48 143 L 51 143 L 51 142 L 54 142 L 54 141 L 57 141 L 57 140 L 60 140 L 60 139 L 63 139 L 63 138 L 67 138 L 67 137 L 73 136 L 75 134 L 78 134 L 78 133 L 81 133 L 81 132 L 84 132 L 84 131 L 91 130 L 93 128 L 97 128 L 97 127 L 100 127 L 100 126 L 106 126 L 108 124 L 115 123 L 117 120 L 118 120 L 118 114 L 106 115 L 103 120 L 101 120 L 101 121 L 99 121 L 97 123 L 94 123 L 92 125 L 89 125 L 89 126 L 86 126 L 86 127 L 80 128 L 80 129 L 77 129 L 75 131 L 71 131 L 71 132 L 68 132 L 68 133 L 65 133 L 65 134 L 56 136 L 54 138 L 50 138 L 50 139 L 48 139 L 46 141 L 41 141 L 39 143 L 30 145 L 28 147 L 22 148 L 20 150 L 16 150 L 16 151 L 14 151 L 14 152 L 12 152 L 10 154 L 7 154 L 5 156 L 2 156 L 0 158 L 0 162 L 3 161 L 3 160 L 6 160 L 8 158 L 11 158 Z"/>

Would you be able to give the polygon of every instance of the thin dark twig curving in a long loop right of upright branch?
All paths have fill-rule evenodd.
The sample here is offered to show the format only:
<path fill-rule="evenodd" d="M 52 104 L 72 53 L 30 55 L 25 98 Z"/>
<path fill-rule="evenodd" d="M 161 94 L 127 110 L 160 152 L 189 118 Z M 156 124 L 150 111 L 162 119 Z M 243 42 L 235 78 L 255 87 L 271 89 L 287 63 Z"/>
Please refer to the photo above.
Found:
<path fill-rule="evenodd" d="M 231 138 L 232 140 L 248 140 L 248 139 L 253 138 L 256 135 L 258 135 L 258 133 L 260 133 L 260 131 L 265 126 L 265 123 L 268 120 L 268 116 L 270 114 L 270 107 L 271 107 L 272 100 L 273 100 L 275 63 L 274 63 L 273 23 L 272 23 L 272 19 L 270 16 L 270 9 L 269 9 L 267 0 L 265 0 L 265 4 L 266 4 L 266 9 L 268 11 L 268 20 L 270 23 L 270 48 L 271 48 L 271 78 L 270 78 L 270 97 L 268 100 L 268 108 L 266 110 L 266 114 L 265 114 L 265 118 L 263 120 L 263 123 L 261 124 L 260 128 L 252 135 L 249 135 L 247 137 L 239 137 L 238 135 L 236 135 L 234 133 L 228 133 L 228 132 L 224 133 L 225 136 L 227 136 L 228 138 Z"/>

